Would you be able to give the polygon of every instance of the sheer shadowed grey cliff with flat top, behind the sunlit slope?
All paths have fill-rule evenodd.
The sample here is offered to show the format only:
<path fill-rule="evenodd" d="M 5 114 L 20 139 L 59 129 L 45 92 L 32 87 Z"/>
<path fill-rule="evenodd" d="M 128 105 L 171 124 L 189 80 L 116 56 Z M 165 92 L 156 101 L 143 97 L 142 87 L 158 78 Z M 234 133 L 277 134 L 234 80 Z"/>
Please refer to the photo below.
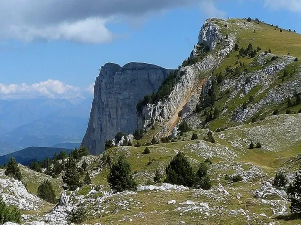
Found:
<path fill-rule="evenodd" d="M 157 65 L 130 62 L 123 67 L 106 63 L 94 86 L 90 120 L 82 145 L 91 154 L 104 150 L 104 143 L 118 131 L 131 133 L 137 126 L 136 104 L 157 91 L 171 72 Z"/>

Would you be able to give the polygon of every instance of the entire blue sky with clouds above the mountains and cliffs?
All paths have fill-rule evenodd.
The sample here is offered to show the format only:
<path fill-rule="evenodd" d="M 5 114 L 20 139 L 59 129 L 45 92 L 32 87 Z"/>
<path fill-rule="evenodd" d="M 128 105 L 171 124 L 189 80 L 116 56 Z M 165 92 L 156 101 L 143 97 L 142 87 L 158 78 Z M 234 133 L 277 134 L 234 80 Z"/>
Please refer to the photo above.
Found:
<path fill-rule="evenodd" d="M 208 17 L 301 33 L 301 0 L 1 0 L 0 99 L 92 96 L 101 65 L 176 68 Z"/>

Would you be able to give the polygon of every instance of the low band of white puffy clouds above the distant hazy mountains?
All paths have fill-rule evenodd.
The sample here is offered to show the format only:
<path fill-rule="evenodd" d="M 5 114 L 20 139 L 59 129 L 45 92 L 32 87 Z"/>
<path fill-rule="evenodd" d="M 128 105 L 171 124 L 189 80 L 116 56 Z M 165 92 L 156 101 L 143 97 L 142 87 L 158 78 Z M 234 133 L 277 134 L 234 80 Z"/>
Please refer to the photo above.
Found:
<path fill-rule="evenodd" d="M 91 91 L 88 88 L 82 90 L 79 87 L 66 84 L 60 80 L 48 79 L 31 85 L 26 83 L 8 85 L 0 83 L 1 99 L 37 97 L 72 99 L 82 97 L 83 95 L 91 95 Z"/>

